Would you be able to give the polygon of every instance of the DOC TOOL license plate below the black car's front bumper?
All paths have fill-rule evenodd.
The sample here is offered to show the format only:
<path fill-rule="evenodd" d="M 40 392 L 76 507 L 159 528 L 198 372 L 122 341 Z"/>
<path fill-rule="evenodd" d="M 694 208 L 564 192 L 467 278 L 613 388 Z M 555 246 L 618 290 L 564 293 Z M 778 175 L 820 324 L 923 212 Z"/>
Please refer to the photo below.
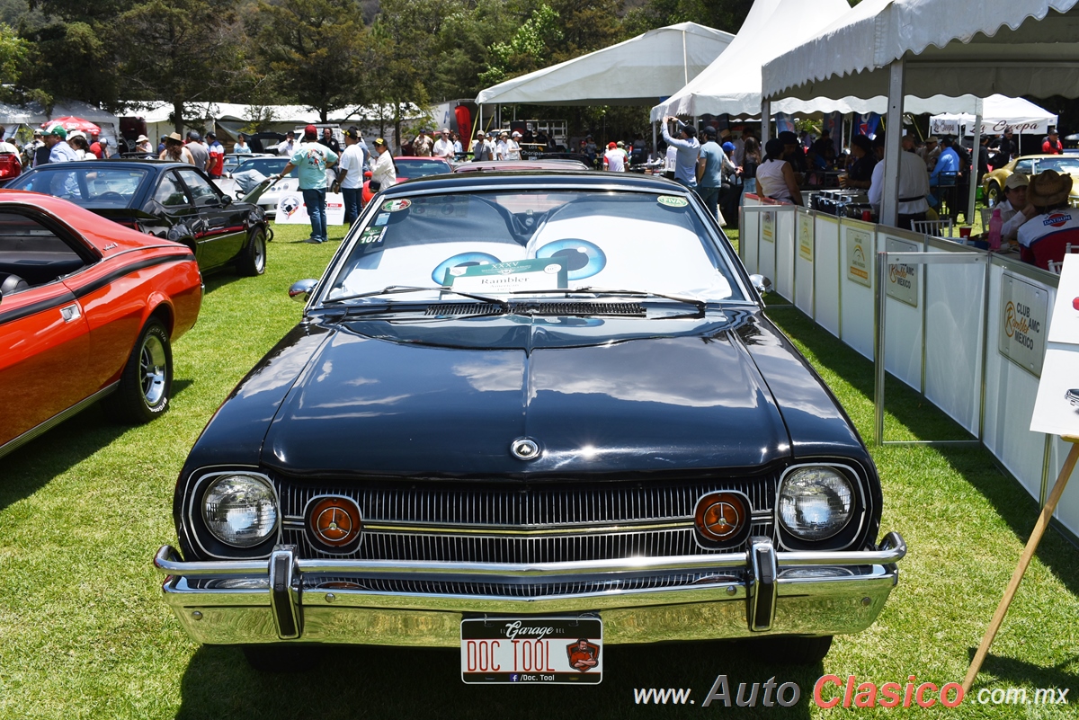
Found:
<path fill-rule="evenodd" d="M 599 618 L 476 618 L 461 621 L 461 679 L 469 684 L 599 684 Z"/>

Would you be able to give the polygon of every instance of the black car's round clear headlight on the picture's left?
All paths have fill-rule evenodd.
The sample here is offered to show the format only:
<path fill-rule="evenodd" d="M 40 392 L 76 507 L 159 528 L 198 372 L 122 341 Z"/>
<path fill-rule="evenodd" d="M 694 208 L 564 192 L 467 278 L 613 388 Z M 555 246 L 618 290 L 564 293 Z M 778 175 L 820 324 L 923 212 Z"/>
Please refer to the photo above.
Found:
<path fill-rule="evenodd" d="M 234 548 L 254 548 L 277 528 L 273 488 L 254 475 L 221 475 L 203 496 L 203 520 L 210 534 Z"/>

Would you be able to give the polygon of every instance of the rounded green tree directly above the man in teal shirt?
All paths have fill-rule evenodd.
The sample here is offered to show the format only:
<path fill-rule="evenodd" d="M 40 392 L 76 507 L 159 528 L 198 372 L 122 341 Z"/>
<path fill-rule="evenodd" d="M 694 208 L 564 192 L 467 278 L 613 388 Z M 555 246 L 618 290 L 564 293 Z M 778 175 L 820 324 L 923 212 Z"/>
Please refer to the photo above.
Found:
<path fill-rule="evenodd" d="M 360 68 L 367 29 L 355 0 L 261 1 L 255 18 L 256 55 L 279 93 L 329 113 L 366 100 Z"/>

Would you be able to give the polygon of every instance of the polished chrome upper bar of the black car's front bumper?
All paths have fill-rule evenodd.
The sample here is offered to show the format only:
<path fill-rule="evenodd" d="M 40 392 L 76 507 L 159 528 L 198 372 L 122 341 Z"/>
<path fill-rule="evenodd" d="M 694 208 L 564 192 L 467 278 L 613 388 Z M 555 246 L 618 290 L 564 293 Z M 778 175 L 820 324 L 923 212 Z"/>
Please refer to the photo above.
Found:
<path fill-rule="evenodd" d="M 780 551 L 778 568 L 828 565 L 891 565 L 906 555 L 906 542 L 898 532 L 884 537 L 878 550 L 871 551 Z M 480 577 L 546 579 L 581 577 L 590 573 L 610 579 L 617 574 L 642 572 L 709 572 L 718 568 L 745 568 L 745 553 L 723 555 L 681 555 L 675 557 L 637 557 L 565 563 L 437 563 L 418 560 L 344 560 L 331 558 L 298 559 L 300 572 L 312 574 L 404 574 L 412 580 L 429 577 L 438 580 L 472 580 Z M 182 577 L 268 576 L 269 560 L 204 560 L 186 563 L 172 545 L 162 545 L 153 558 L 154 567 L 165 574 Z"/>

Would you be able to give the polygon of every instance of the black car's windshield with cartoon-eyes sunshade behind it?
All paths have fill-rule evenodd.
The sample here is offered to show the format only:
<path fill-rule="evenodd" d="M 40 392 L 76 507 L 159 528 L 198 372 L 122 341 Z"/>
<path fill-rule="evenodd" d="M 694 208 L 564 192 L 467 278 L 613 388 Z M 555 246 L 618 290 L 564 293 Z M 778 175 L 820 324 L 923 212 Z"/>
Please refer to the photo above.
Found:
<path fill-rule="evenodd" d="M 325 301 L 391 286 L 550 296 L 620 289 L 745 300 L 726 251 L 679 195 L 597 190 L 469 192 L 382 199 L 350 235 Z M 409 297 L 424 297 L 424 292 Z M 384 299 L 383 299 L 384 300 Z"/>

